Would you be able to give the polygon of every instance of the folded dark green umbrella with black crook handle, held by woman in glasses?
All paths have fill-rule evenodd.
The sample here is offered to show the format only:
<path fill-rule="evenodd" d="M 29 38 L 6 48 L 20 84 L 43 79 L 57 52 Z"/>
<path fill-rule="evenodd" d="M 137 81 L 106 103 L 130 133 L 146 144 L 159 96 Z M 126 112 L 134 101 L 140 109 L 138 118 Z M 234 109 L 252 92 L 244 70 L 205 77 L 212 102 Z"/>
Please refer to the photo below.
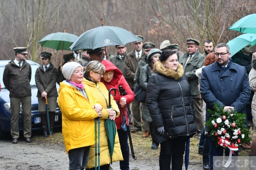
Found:
<path fill-rule="evenodd" d="M 112 108 L 111 106 L 111 90 L 114 90 L 114 96 L 116 95 L 116 89 L 111 88 L 109 89 L 109 105 L 108 108 Z M 105 120 L 104 122 L 105 128 L 106 128 L 106 133 L 108 134 L 108 148 L 109 148 L 109 154 L 111 158 L 111 164 L 112 164 L 112 156 L 114 152 L 114 145 L 115 145 L 115 137 L 116 137 L 116 124 L 114 120 L 110 120 L 109 117 L 108 119 Z"/>

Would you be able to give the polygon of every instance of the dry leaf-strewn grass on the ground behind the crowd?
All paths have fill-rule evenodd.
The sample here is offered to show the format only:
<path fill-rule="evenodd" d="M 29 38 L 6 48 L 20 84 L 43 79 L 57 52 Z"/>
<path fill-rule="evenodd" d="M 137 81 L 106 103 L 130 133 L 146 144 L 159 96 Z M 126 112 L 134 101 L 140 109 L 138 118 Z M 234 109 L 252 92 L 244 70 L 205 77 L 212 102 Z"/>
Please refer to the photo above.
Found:
<path fill-rule="evenodd" d="M 256 137 L 256 131 L 250 130 L 250 138 L 254 139 Z M 131 133 L 132 144 L 134 149 L 134 155 L 140 160 L 155 161 L 158 160 L 160 147 L 157 150 L 151 149 L 151 137 L 142 137 L 143 132 Z M 39 145 L 62 145 L 64 148 L 64 142 L 62 138 L 62 133 L 54 133 L 54 136 L 49 138 L 43 138 L 40 136 L 33 136 L 33 142 L 37 142 Z M 129 143 L 129 141 L 128 141 Z M 201 164 L 202 156 L 198 154 L 198 143 L 199 139 L 193 137 L 190 139 L 190 152 L 189 152 L 189 164 Z M 240 156 L 248 156 L 251 150 L 239 150 Z"/>

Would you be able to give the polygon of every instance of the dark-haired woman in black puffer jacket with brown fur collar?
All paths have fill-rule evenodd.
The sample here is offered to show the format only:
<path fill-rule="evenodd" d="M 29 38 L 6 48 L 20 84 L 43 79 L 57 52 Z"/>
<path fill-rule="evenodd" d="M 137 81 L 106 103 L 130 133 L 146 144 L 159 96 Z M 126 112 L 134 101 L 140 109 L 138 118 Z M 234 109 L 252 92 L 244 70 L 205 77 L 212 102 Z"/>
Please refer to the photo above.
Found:
<path fill-rule="evenodd" d="M 147 84 L 146 102 L 153 120 L 152 139 L 161 144 L 160 170 L 182 169 L 186 141 L 196 134 L 194 105 L 187 77 L 174 51 L 164 50 Z M 168 168 L 169 167 L 169 168 Z"/>

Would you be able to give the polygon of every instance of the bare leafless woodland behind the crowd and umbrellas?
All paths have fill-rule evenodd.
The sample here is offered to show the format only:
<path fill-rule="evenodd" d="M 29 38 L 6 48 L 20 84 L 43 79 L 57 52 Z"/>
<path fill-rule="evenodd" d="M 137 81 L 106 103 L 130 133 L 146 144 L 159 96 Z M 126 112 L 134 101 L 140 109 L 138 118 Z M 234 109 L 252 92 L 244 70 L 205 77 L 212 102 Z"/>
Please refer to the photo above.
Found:
<path fill-rule="evenodd" d="M 142 35 L 144 42 L 151 41 L 156 48 L 168 39 L 186 52 L 186 39 L 195 38 L 203 53 L 203 40 L 211 39 L 214 46 L 227 43 L 241 35 L 228 28 L 255 11 L 256 0 L 2 0 L 0 60 L 14 58 L 14 47 L 27 47 L 28 60 L 41 64 L 40 53 L 47 51 L 58 67 L 61 51 L 42 48 L 38 41 L 64 29 L 80 36 L 101 26 L 101 18 L 104 26 Z M 127 52 L 132 50 L 132 43 L 127 44 Z M 115 54 L 115 47 L 108 47 L 108 53 Z"/>

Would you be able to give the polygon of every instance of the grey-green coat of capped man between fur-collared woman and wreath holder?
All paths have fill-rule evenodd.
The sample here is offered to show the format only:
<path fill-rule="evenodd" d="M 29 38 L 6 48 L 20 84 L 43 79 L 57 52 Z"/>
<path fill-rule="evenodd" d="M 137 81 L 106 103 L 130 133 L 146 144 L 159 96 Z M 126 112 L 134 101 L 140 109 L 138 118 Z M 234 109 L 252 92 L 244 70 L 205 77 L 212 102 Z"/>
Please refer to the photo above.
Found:
<path fill-rule="evenodd" d="M 188 57 L 189 54 L 188 52 L 186 52 L 179 58 L 179 63 L 184 66 L 186 64 Z M 199 50 L 197 50 L 194 57 L 188 62 L 188 64 L 184 68 L 184 72 L 187 76 L 189 87 L 191 89 L 191 95 L 193 98 L 200 97 L 198 91 L 199 80 L 198 77 L 196 76 L 196 70 L 203 66 L 204 59 L 205 56 L 203 54 L 200 54 Z"/>

